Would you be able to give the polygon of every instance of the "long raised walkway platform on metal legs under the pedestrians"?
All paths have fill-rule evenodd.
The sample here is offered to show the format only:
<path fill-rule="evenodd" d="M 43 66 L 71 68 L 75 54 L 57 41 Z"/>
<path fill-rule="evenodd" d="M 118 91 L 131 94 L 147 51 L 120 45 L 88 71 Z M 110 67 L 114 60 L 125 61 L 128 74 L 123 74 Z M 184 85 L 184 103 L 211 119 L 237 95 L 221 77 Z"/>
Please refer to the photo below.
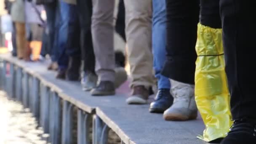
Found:
<path fill-rule="evenodd" d="M 109 129 L 121 144 L 206 144 L 196 138 L 204 129 L 200 117 L 165 121 L 162 115 L 148 112 L 149 104 L 126 104 L 127 84 L 115 96 L 93 97 L 82 91 L 79 82 L 56 80 L 46 66 L 0 55 L 0 87 L 31 109 L 45 133 L 50 133 L 51 144 L 90 144 L 90 139 L 93 144 L 107 144 Z"/>

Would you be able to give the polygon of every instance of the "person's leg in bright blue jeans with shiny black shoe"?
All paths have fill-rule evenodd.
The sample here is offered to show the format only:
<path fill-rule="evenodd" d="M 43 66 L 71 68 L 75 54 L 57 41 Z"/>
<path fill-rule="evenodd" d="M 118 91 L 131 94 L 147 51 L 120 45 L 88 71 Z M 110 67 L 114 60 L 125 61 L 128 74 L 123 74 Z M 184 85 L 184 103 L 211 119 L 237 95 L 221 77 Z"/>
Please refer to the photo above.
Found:
<path fill-rule="evenodd" d="M 163 113 L 173 104 L 173 96 L 170 93 L 171 83 L 168 77 L 161 74 L 166 60 L 166 3 L 165 0 L 152 0 L 152 5 L 153 66 L 157 78 L 158 92 L 155 101 L 150 104 L 149 111 Z"/>

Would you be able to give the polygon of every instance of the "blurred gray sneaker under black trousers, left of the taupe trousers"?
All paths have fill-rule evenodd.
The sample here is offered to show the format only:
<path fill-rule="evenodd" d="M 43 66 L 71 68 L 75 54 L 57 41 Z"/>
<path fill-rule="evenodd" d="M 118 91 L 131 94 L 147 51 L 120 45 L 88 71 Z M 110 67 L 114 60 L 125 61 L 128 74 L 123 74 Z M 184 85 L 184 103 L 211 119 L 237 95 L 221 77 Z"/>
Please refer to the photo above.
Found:
<path fill-rule="evenodd" d="M 97 85 L 97 80 L 98 80 L 97 75 L 91 72 L 87 74 L 83 72 L 82 79 L 81 79 L 83 91 L 91 91 L 93 88 L 95 88 Z"/>

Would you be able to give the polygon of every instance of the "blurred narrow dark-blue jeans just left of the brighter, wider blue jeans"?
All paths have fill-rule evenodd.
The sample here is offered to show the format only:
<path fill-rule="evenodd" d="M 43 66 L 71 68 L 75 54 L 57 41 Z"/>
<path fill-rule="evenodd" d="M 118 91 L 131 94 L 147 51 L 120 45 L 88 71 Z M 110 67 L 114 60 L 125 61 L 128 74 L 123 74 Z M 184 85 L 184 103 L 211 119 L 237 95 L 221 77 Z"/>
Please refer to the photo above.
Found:
<path fill-rule="evenodd" d="M 57 37 L 59 27 L 59 5 L 58 3 L 51 3 L 44 5 L 46 15 L 47 15 L 47 30 L 48 30 L 48 46 L 45 50 L 45 53 L 49 53 L 51 55 L 52 61 L 57 61 L 58 53 L 57 53 Z"/>

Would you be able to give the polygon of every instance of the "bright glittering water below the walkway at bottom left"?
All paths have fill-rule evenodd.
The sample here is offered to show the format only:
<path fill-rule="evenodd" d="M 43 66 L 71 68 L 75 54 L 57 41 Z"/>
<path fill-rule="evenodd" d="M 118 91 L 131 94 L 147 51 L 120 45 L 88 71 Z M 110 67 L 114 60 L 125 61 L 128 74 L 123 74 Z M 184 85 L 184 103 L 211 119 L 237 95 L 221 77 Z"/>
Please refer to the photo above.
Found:
<path fill-rule="evenodd" d="M 0 91 L 0 144 L 48 144 L 28 109 Z"/>

